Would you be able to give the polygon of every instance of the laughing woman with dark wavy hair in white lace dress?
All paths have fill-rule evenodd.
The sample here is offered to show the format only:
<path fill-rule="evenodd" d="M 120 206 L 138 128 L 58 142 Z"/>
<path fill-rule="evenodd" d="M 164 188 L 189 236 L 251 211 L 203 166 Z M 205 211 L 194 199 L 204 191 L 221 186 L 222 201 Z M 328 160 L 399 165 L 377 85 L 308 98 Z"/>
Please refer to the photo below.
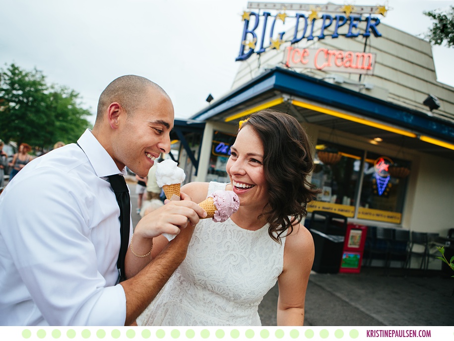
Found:
<path fill-rule="evenodd" d="M 276 280 L 277 324 L 302 326 L 314 242 L 300 224 L 317 190 L 308 136 L 295 118 L 263 110 L 245 121 L 231 147 L 231 182 L 190 183 L 196 203 L 218 189 L 240 208 L 224 223 L 195 226 L 185 261 L 137 319 L 148 326 L 259 326 L 258 306 Z M 157 255 L 167 244 L 154 240 Z"/>

